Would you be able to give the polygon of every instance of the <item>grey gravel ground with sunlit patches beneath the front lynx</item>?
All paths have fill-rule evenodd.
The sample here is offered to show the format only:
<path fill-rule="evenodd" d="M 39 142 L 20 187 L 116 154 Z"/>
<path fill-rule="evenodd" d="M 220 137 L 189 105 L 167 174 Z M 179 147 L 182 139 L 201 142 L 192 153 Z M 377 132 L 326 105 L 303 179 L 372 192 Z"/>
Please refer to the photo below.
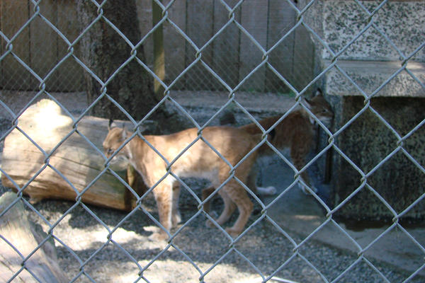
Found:
<path fill-rule="evenodd" d="M 194 115 L 203 112 L 196 108 L 188 109 Z M 0 121 L 0 134 L 10 125 L 7 122 Z M 188 180 L 188 184 L 198 196 L 198 189 L 205 185 L 196 180 Z M 6 190 L 0 186 L 0 195 Z M 219 229 L 205 226 L 205 216 L 200 214 L 193 218 L 197 212 L 196 200 L 185 190 L 182 191 L 180 208 L 183 223 L 190 222 L 174 238 L 174 247 L 164 252 L 163 249 L 167 248 L 165 242 L 149 241 L 148 237 L 155 227 L 142 210 L 126 218 L 113 233 L 113 241 L 108 242 L 108 229 L 114 229 L 127 214 L 81 205 L 68 212 L 73 205 L 72 202 L 46 200 L 34 207 L 50 224 L 67 213 L 53 233 L 66 245 L 58 241 L 55 243 L 60 267 L 69 279 L 77 278 L 75 282 L 91 282 L 89 277 L 95 282 L 134 282 L 139 277 L 140 268 L 146 268 L 142 275 L 149 282 L 199 282 L 200 273 L 207 272 L 212 265 L 215 267 L 205 275 L 205 282 L 257 282 L 255 279 L 260 276 L 259 272 L 267 277 L 276 270 L 276 277 L 295 282 L 331 282 L 344 270 L 347 271 L 338 282 L 385 282 L 365 260 L 348 268 L 358 259 L 356 255 L 322 243 L 307 241 L 294 251 L 293 243 L 265 220 L 259 221 L 232 245 Z M 157 217 L 152 196 L 143 205 Z M 220 211 L 222 204 L 220 200 L 215 200 L 213 206 Z M 255 209 L 257 213 L 251 216 L 248 226 L 260 217 L 259 204 Z M 30 209 L 28 214 L 30 220 L 42 226 L 44 231 L 49 229 L 38 214 Z M 293 236 L 296 243 L 302 240 L 300 236 Z M 373 263 L 390 282 L 402 282 L 409 276 L 380 262 Z M 81 275 L 81 272 L 85 273 Z M 414 279 L 411 282 L 424 281 Z"/>

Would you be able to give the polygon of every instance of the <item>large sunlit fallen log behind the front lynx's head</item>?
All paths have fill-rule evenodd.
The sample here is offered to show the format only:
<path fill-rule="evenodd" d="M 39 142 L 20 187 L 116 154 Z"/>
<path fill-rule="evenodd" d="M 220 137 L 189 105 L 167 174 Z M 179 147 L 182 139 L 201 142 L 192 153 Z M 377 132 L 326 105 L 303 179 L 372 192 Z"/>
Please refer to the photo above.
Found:
<path fill-rule="evenodd" d="M 81 200 L 86 204 L 131 209 L 135 197 L 130 190 L 108 171 L 101 174 L 105 159 L 100 152 L 108 133 L 108 120 L 84 117 L 77 127 L 73 124 L 72 118 L 52 100 L 31 105 L 4 141 L 3 185 L 15 191 L 25 186 L 23 193 L 31 203 L 43 199 L 75 201 L 77 192 L 84 190 Z M 127 180 L 127 171 L 135 173 L 125 167 L 115 172 Z M 135 190 L 141 195 L 145 187 L 137 182 L 138 177 L 130 176 L 130 180 L 130 185 L 139 185 Z"/>

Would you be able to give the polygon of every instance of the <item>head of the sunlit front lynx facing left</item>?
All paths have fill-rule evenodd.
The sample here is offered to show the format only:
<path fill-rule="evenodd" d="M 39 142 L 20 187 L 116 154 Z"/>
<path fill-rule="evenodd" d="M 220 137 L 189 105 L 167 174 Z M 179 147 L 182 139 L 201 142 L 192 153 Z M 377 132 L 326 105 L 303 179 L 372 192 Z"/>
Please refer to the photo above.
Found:
<path fill-rule="evenodd" d="M 108 130 L 109 132 L 103 141 L 103 150 L 107 158 L 111 157 L 128 137 L 125 128 L 118 127 L 112 120 L 109 121 Z M 118 154 L 115 154 L 112 158 L 111 164 L 128 163 L 130 157 L 128 146 L 124 146 L 123 149 L 120 149 Z"/>

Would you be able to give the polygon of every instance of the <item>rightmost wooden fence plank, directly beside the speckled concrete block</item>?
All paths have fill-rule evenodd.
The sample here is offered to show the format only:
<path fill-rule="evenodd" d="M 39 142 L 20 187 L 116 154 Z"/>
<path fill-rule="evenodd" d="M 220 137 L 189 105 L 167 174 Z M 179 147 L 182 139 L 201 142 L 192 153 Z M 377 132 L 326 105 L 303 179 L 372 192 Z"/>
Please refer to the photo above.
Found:
<path fill-rule="evenodd" d="M 294 85 L 301 90 L 314 79 L 314 44 L 303 26 L 295 30 L 293 64 Z"/>

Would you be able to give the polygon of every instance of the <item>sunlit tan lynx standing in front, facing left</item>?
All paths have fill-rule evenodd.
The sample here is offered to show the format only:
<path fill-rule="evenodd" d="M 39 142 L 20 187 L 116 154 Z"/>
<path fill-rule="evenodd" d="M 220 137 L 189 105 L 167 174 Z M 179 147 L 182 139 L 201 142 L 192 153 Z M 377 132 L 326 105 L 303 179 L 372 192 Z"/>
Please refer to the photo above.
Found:
<path fill-rule="evenodd" d="M 110 122 L 108 134 L 103 141 L 106 157 L 115 156 L 111 163 L 121 159 L 129 162 L 135 170 L 142 175 L 147 187 L 154 187 L 157 207 L 159 210 L 159 222 L 164 229 L 169 231 L 172 226 L 180 221 L 179 182 L 172 174 L 180 177 L 194 177 L 209 179 L 213 187 L 219 187 L 229 177 L 229 165 L 218 156 L 210 147 L 235 166 L 251 149 L 261 141 L 261 134 L 251 134 L 245 129 L 236 127 L 205 127 L 202 137 L 198 139 L 198 129 L 186 129 L 175 134 L 146 135 L 145 139 L 150 145 L 162 154 L 159 156 L 146 141 L 140 137 L 133 137 L 128 144 L 123 146 L 118 153 L 117 149 L 130 137 L 130 132 L 117 127 Z M 207 142 L 205 142 L 207 141 Z M 186 149 L 186 146 L 191 147 Z M 210 145 L 209 145 L 210 144 Z M 174 161 L 174 159 L 179 158 Z M 250 154 L 234 171 L 235 177 L 246 183 L 246 178 L 251 171 L 251 166 L 256 160 L 256 151 Z M 171 173 L 167 172 L 171 169 Z M 231 178 L 218 192 L 225 203 L 222 214 L 217 223 L 224 224 L 234 210 L 239 210 L 237 221 L 226 231 L 231 236 L 237 236 L 242 232 L 246 221 L 251 215 L 253 204 L 249 200 L 244 187 L 237 180 Z M 212 226 L 210 222 L 207 223 Z M 151 236 L 154 239 L 166 238 L 166 232 L 161 231 Z"/>

